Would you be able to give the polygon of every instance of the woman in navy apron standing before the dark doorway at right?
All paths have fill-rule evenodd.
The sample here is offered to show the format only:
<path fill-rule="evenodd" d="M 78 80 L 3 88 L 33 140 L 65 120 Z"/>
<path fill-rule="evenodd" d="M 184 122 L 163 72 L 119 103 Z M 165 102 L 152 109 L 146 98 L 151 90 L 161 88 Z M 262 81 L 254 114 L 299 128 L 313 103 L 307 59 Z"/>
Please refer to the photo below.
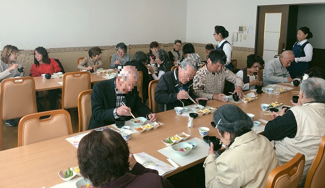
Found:
<path fill-rule="evenodd" d="M 301 27 L 297 32 L 298 42 L 293 47 L 295 53 L 295 62 L 288 68 L 291 78 L 303 76 L 304 72 L 308 70 L 308 62 L 313 57 L 313 47 L 307 39 L 313 38 L 313 34 L 308 27 Z"/>

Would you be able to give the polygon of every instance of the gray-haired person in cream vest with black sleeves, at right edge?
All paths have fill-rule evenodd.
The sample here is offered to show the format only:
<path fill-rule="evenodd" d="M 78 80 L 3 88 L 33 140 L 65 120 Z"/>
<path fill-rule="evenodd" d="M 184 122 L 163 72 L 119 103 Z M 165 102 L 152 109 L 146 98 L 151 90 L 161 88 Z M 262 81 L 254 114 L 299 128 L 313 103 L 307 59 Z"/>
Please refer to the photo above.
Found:
<path fill-rule="evenodd" d="M 264 135 L 274 140 L 279 165 L 291 160 L 298 152 L 305 155 L 305 168 L 300 185 L 315 158 L 321 138 L 325 135 L 325 80 L 307 78 L 300 85 L 298 105 L 280 113 L 273 112 Z"/>

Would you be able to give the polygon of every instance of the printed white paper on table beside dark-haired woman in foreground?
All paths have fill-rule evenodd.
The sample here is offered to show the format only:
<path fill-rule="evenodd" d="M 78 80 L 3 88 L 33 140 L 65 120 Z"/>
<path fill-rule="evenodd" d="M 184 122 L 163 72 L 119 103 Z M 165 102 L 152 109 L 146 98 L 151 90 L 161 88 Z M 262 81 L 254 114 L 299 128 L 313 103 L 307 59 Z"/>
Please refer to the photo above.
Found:
<path fill-rule="evenodd" d="M 145 168 L 150 168 L 150 169 L 154 169 L 158 171 L 158 174 L 160 176 L 164 176 L 166 174 L 169 174 L 171 172 L 173 172 L 176 168 L 164 163 L 156 158 L 154 158 L 153 156 L 142 152 L 142 153 L 136 153 L 133 154 L 134 157 L 136 158 L 137 162 L 140 163 L 142 166 L 144 166 Z"/>

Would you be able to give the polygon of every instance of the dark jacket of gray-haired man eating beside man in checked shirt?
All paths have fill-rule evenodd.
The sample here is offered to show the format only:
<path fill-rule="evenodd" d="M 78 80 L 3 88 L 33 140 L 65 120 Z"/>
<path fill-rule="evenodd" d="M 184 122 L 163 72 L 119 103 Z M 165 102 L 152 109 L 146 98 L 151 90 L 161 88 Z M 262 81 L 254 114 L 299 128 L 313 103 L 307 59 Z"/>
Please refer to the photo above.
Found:
<path fill-rule="evenodd" d="M 195 100 L 198 98 L 193 94 L 193 89 L 191 87 L 193 83 L 193 80 L 189 81 L 186 83 L 184 86 L 189 88 L 188 94 L 189 96 Z M 163 76 L 160 77 L 157 88 L 156 88 L 156 93 L 154 95 L 155 101 L 158 103 L 159 111 L 167 111 L 174 109 L 174 107 L 183 107 L 182 102 L 184 103 L 184 106 L 193 104 L 191 100 L 182 100 L 179 101 L 177 99 L 177 93 L 176 90 L 179 89 L 178 86 L 178 68 L 174 69 L 173 71 L 167 72 L 163 74 Z"/>

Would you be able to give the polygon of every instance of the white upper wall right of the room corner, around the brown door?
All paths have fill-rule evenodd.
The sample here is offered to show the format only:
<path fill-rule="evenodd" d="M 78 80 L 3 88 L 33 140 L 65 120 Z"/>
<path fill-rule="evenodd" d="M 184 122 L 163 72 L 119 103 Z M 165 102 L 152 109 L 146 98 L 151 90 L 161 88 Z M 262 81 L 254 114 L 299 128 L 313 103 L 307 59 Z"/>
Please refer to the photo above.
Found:
<path fill-rule="evenodd" d="M 257 6 L 280 5 L 280 4 L 302 4 L 302 3 L 325 3 L 325 1 L 313 0 L 249 0 L 249 1 L 216 1 L 216 0 L 187 0 L 187 24 L 186 41 L 193 43 L 212 43 L 214 40 L 214 26 L 222 25 L 228 30 L 231 41 L 231 34 L 238 32 L 240 25 L 253 25 L 253 34 L 247 34 L 247 40 L 234 42 L 234 46 L 254 48 L 256 12 Z M 324 18 L 324 13 L 322 18 Z M 309 14 L 309 12 L 308 12 Z M 322 31 L 324 31 L 322 25 Z M 312 31 L 313 32 L 313 31 Z M 238 38 L 239 39 L 239 38 Z"/>

